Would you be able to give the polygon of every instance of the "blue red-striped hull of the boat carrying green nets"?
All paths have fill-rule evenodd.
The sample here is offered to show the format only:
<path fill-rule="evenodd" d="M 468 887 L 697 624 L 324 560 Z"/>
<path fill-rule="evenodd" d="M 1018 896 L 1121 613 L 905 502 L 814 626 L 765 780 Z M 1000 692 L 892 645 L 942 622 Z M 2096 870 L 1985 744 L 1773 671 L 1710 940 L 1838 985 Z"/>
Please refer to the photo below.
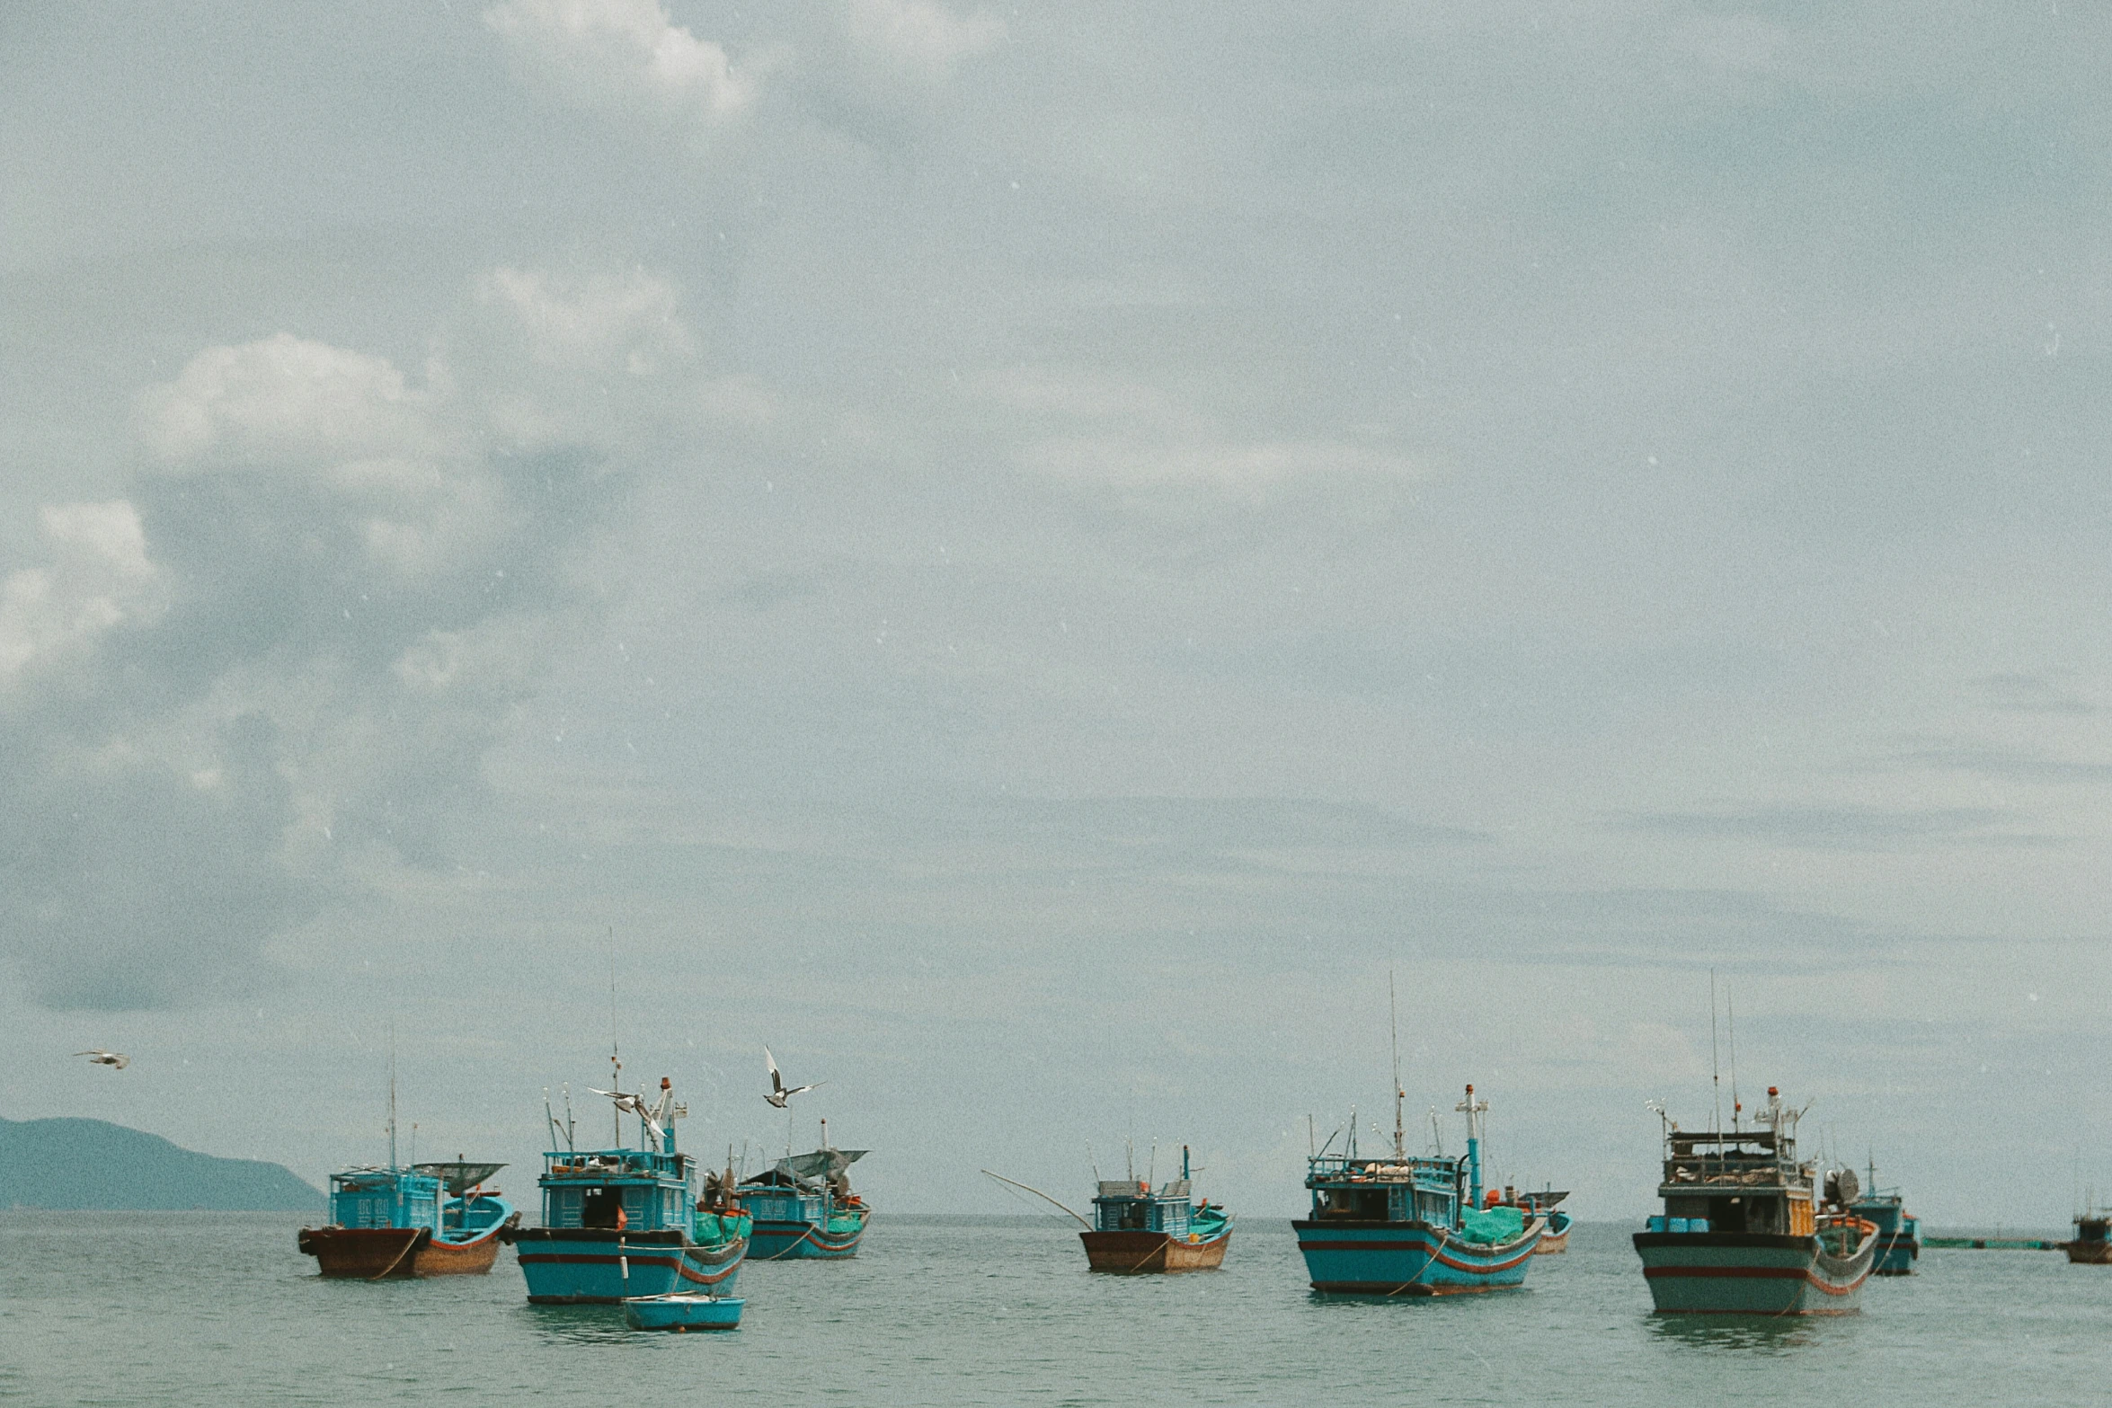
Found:
<path fill-rule="evenodd" d="M 1293 1222 L 1312 1288 L 1345 1296 L 1462 1296 L 1525 1283 L 1546 1220 L 1512 1241 L 1459 1241 L 1432 1222 Z"/>

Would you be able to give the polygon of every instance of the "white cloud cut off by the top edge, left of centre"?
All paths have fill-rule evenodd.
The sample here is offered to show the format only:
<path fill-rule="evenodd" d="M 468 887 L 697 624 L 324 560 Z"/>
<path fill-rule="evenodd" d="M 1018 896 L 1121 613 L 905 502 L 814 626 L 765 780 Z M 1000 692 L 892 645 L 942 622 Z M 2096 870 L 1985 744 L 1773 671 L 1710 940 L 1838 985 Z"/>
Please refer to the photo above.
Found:
<path fill-rule="evenodd" d="M 659 0 L 505 0 L 484 23 L 524 78 L 589 112 L 710 129 L 756 99 L 754 78 Z"/>

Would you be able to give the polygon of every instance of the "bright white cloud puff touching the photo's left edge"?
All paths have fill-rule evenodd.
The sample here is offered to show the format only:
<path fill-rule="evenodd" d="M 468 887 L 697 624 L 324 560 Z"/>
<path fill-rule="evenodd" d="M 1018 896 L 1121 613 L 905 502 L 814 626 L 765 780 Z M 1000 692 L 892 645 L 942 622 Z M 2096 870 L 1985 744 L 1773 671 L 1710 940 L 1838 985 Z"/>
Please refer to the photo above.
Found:
<path fill-rule="evenodd" d="M 38 528 L 51 566 L 21 568 L 0 583 L 0 686 L 163 608 L 161 574 L 131 502 L 46 505 Z"/>

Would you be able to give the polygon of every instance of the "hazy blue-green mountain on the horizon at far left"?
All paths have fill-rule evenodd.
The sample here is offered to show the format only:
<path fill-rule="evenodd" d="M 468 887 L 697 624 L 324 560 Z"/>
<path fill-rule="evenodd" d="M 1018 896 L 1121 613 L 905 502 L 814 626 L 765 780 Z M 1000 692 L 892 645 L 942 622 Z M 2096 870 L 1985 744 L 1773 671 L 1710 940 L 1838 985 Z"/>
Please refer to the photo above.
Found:
<path fill-rule="evenodd" d="M 277 1163 L 215 1159 L 99 1119 L 0 1119 L 0 1207 L 321 1212 Z"/>

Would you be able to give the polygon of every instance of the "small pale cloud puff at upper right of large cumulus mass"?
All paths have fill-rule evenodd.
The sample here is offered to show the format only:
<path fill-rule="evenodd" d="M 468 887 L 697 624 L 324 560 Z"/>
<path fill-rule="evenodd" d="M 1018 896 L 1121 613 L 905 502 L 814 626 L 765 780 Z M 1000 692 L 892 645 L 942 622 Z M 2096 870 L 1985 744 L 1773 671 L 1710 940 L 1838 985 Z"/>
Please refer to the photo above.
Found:
<path fill-rule="evenodd" d="M 477 300 L 513 315 L 545 367 L 653 376 L 697 350 L 676 317 L 674 285 L 642 268 L 577 281 L 494 268 L 477 283 Z"/>

